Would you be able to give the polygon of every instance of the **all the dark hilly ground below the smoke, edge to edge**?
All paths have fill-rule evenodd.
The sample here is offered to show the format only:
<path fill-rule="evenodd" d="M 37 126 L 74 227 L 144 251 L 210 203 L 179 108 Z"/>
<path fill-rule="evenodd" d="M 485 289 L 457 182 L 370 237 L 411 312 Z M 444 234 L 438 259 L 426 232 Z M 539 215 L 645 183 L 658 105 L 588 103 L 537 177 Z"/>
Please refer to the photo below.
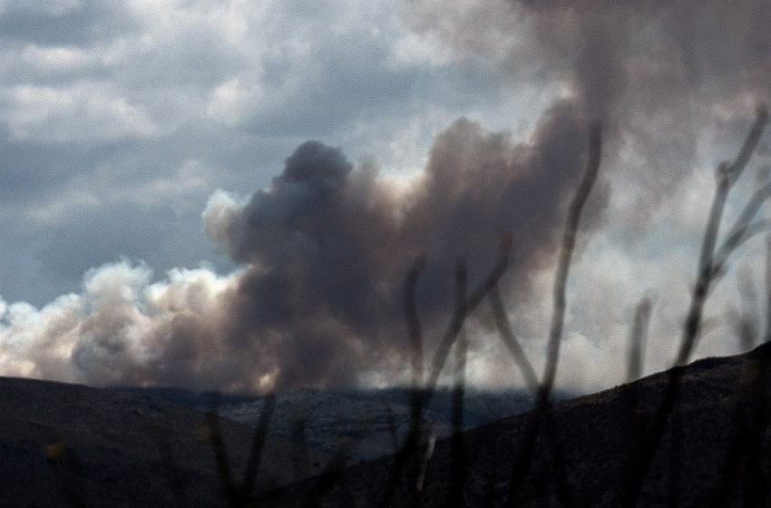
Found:
<path fill-rule="evenodd" d="M 250 505 L 765 505 L 756 500 L 767 501 L 771 473 L 769 364 L 767 344 L 746 355 L 702 359 L 390 455 L 382 454 L 405 442 L 404 390 L 284 394 Z M 674 404 L 660 420 L 673 380 Z M 469 396 L 467 425 L 530 402 L 520 396 L 517 402 Z M 231 505 L 201 410 L 207 400 L 183 390 L 0 378 L 0 506 Z M 449 432 L 450 400 L 449 393 L 436 394 L 425 413 L 435 435 Z M 262 404 L 259 397 L 220 399 L 237 480 Z M 651 441 L 659 420 L 666 425 Z M 346 455 L 338 456 L 340 450 Z M 636 471 L 630 464 L 647 451 L 650 461 L 630 502 L 635 475 L 629 472 Z M 340 467 L 328 470 L 329 464 Z"/>

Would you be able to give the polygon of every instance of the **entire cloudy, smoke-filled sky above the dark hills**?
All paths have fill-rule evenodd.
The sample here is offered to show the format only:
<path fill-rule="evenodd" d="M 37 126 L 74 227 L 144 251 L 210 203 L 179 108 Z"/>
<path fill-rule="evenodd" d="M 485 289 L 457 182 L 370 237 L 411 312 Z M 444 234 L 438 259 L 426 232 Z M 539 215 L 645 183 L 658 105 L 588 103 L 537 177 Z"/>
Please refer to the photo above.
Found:
<path fill-rule="evenodd" d="M 769 23 L 764 0 L 0 0 L 0 375 L 403 383 L 416 259 L 430 357 L 458 260 L 476 287 L 507 235 L 503 300 L 540 371 L 592 122 L 558 385 L 625 379 L 643 298 L 643 371 L 669 366 L 717 165 L 771 99 Z M 760 233 L 694 357 L 766 333 Z M 465 337 L 470 383 L 522 386 L 485 303 Z"/>

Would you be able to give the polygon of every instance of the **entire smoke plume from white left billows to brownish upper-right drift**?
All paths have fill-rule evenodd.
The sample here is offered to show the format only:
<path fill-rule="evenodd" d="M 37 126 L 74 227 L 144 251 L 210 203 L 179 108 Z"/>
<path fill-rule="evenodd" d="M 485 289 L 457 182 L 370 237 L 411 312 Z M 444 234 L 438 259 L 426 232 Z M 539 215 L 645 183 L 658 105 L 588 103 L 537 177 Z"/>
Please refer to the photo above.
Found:
<path fill-rule="evenodd" d="M 614 213 L 638 220 L 655 210 L 652 197 L 678 190 L 699 142 L 711 141 L 705 125 L 727 132 L 733 148 L 755 104 L 769 99 L 763 1 L 410 5 L 415 31 L 500 64 L 512 86 L 552 93 L 527 140 L 459 120 L 406 182 L 303 143 L 268 189 L 243 201 L 211 197 L 204 230 L 239 271 L 179 269 L 153 283 L 149 269 L 122 261 L 44 308 L 4 303 L 0 372 L 246 390 L 350 385 L 369 369 L 405 366 L 402 286 L 419 256 L 429 350 L 452 311 L 456 260 L 468 261 L 475 285 L 505 233 L 513 238 L 506 296 L 512 305 L 531 296 L 533 278 L 553 262 L 589 122 L 608 132 L 603 168 L 626 171 Z M 584 228 L 609 200 L 600 183 Z M 568 340 L 566 354 L 574 349 Z"/>

